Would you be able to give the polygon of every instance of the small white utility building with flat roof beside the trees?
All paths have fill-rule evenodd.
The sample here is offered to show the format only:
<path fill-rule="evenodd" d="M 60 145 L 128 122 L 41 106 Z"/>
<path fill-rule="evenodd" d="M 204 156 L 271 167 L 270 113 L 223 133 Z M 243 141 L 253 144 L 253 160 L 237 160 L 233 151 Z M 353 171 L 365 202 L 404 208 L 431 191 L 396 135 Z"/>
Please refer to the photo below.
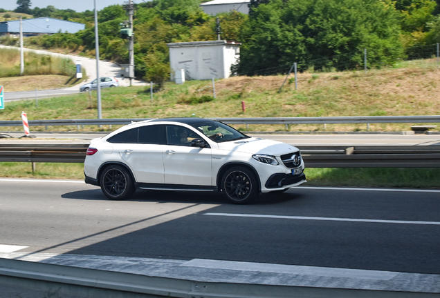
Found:
<path fill-rule="evenodd" d="M 167 43 L 172 81 L 177 72 L 185 74 L 184 80 L 230 77 L 230 67 L 239 59 L 240 45 L 225 40 Z"/>

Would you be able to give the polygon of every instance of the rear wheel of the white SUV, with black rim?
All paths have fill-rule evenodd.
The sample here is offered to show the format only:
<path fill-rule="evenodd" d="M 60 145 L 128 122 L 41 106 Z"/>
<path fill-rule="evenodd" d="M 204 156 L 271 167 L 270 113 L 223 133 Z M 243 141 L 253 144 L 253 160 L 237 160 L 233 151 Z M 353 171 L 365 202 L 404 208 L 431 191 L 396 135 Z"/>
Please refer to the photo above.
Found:
<path fill-rule="evenodd" d="M 111 165 L 104 169 L 100 185 L 104 195 L 113 200 L 128 199 L 136 190 L 129 172 L 118 165 Z"/>

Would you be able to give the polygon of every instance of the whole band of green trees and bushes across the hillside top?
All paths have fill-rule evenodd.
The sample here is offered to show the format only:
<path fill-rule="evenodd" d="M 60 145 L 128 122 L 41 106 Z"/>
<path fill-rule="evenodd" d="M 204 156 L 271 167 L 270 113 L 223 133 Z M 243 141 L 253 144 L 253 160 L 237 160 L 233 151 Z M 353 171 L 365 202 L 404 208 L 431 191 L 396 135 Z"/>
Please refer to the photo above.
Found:
<path fill-rule="evenodd" d="M 437 0 L 440 1 L 440 0 Z M 405 57 L 405 48 L 440 41 L 440 9 L 434 0 L 251 0 L 249 14 L 205 14 L 200 0 L 153 0 L 136 4 L 134 15 L 136 77 L 163 81 L 169 76 L 167 43 L 216 40 L 216 17 L 221 39 L 242 43 L 236 74 L 259 74 L 273 66 L 307 66 L 307 61 L 345 54 L 351 66 L 363 66 L 363 49 L 374 49 L 369 67 L 392 65 Z M 93 12 L 30 9 L 18 0 L 16 12 L 55 17 L 86 24 L 76 34 L 30 37 L 25 43 L 43 48 L 68 48 L 94 54 Z M 122 6 L 98 12 L 101 59 L 128 62 L 127 40 L 120 23 Z M 8 42 L 3 40 L 3 43 Z M 329 67 L 336 65 L 329 59 Z"/>

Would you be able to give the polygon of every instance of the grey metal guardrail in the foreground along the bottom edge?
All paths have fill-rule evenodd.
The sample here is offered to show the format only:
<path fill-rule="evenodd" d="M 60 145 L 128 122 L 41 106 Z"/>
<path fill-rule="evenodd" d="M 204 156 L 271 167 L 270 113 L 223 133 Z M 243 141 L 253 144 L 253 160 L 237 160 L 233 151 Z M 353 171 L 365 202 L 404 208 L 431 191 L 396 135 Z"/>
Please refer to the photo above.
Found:
<path fill-rule="evenodd" d="M 261 277 L 260 277 L 261 278 Z M 338 277 L 335 277 L 338 278 Z M 207 282 L 169 277 L 154 277 L 125 272 L 113 272 L 91 268 L 44 264 L 15 259 L 0 259 L 0 285 L 31 290 L 48 291 L 52 294 L 79 295 L 81 297 L 179 297 L 179 298 L 432 298 L 439 292 L 425 292 L 432 279 L 418 279 L 419 292 L 407 292 L 401 286 L 389 290 L 384 286 L 365 284 L 349 285 L 348 281 L 337 287 L 280 286 L 271 284 L 240 284 L 233 282 Z M 374 284 L 370 281 L 370 284 Z M 57 297 L 58 297 L 57 295 Z M 18 295 L 17 295 L 18 296 Z M 44 297 L 49 297 L 44 296 Z"/>

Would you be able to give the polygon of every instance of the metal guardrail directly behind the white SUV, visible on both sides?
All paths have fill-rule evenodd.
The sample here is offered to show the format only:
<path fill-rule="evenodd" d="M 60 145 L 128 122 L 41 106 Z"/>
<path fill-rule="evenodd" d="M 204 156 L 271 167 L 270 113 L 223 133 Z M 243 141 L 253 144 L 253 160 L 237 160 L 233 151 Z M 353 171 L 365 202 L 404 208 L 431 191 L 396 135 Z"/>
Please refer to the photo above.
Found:
<path fill-rule="evenodd" d="M 82 163 L 87 144 L 8 144 L 0 161 Z M 440 146 L 297 146 L 307 168 L 440 168 Z"/>

